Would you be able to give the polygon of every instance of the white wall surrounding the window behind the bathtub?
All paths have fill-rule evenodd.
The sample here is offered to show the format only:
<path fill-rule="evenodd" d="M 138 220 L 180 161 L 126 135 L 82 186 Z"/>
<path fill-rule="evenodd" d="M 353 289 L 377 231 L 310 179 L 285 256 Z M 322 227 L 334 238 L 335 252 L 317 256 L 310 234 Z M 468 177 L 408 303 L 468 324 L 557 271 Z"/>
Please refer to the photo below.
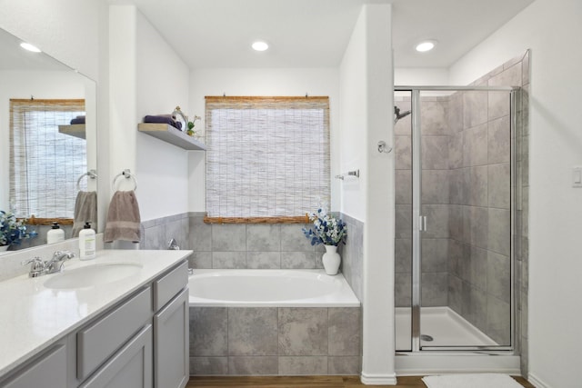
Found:
<path fill-rule="evenodd" d="M 196 128 L 205 127 L 206 95 L 328 95 L 331 139 L 331 175 L 340 174 L 338 70 L 313 69 L 197 69 L 190 74 L 190 107 L 186 113 L 202 117 Z M 189 155 L 190 212 L 206 211 L 206 154 Z M 332 179 L 330 177 L 330 179 Z M 339 210 L 338 180 L 332 179 L 332 210 Z"/>

